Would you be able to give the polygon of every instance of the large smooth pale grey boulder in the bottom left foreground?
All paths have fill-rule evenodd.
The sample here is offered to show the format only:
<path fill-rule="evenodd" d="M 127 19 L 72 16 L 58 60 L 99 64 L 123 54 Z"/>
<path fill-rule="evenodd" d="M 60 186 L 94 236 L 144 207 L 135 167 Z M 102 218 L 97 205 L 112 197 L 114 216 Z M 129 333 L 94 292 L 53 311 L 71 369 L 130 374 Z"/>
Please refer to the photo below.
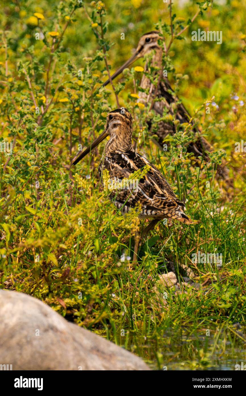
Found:
<path fill-rule="evenodd" d="M 149 370 L 137 356 L 67 322 L 42 301 L 0 290 L 0 364 L 13 370 Z"/>

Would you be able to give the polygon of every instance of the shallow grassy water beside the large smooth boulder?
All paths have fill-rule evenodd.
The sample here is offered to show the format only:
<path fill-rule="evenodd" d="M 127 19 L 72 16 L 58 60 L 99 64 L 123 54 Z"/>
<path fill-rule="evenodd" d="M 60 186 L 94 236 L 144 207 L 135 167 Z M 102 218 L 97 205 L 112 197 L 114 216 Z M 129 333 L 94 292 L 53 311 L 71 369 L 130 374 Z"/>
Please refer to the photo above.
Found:
<path fill-rule="evenodd" d="M 128 348 L 144 358 L 154 370 L 235 370 L 235 365 L 246 365 L 246 329 L 204 331 L 180 334 L 168 329 L 162 337 L 139 337 L 131 334 Z M 245 366 L 246 368 L 246 366 Z"/>

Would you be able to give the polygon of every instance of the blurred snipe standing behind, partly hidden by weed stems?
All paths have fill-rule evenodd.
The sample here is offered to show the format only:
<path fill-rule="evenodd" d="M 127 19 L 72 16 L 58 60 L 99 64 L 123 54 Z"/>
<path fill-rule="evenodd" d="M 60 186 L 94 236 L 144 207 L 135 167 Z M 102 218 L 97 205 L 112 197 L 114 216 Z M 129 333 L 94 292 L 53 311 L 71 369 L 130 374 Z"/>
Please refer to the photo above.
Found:
<path fill-rule="evenodd" d="M 121 67 L 119 67 L 119 69 L 116 70 L 114 74 L 112 74 L 111 79 L 113 80 L 124 69 L 129 67 L 134 61 L 141 57 L 144 57 L 152 50 L 154 50 L 154 55 L 152 57 L 152 66 L 157 66 L 160 69 L 162 65 L 162 48 L 158 44 L 158 40 L 160 39 L 161 37 L 157 30 L 153 30 L 152 32 L 143 34 L 143 36 L 139 40 L 135 53 Z M 145 65 L 145 72 L 148 72 L 147 63 Z M 156 73 L 159 73 L 159 71 L 156 71 Z M 107 84 L 109 84 L 109 82 L 110 80 L 108 79 L 107 81 L 105 81 L 103 86 L 105 87 Z M 156 89 L 153 87 L 148 76 L 144 74 L 140 86 L 145 90 L 147 89 L 148 94 L 140 91 L 138 94 L 139 101 L 146 105 L 146 102 L 149 99 L 152 100 L 154 98 L 154 94 L 156 93 L 157 97 L 162 99 L 154 103 L 153 109 L 157 114 L 160 114 L 162 116 L 163 109 L 166 108 L 167 112 L 173 115 L 174 111 L 172 104 L 175 103 L 177 105 L 177 112 L 175 113 L 175 118 L 180 121 L 180 124 L 189 122 L 190 114 L 188 113 L 184 105 L 182 105 L 182 103 L 178 103 L 179 99 L 177 96 L 174 95 L 173 89 L 171 88 L 167 77 L 163 77 L 158 80 L 158 86 Z M 148 129 L 150 133 L 151 128 L 152 122 L 151 120 L 149 120 Z M 160 121 L 157 128 L 155 129 L 157 130 L 154 133 L 158 136 L 158 142 L 156 143 L 158 143 L 160 147 L 163 147 L 163 144 L 165 143 L 165 138 L 169 133 L 173 135 L 176 132 L 176 127 L 174 124 L 170 124 L 169 122 L 164 121 Z M 196 132 L 195 126 L 193 127 L 193 131 Z M 199 156 L 203 156 L 203 148 L 205 150 L 205 161 L 209 162 L 209 156 L 206 151 L 212 152 L 213 149 L 210 143 L 208 143 L 207 139 L 205 139 L 205 137 L 200 135 L 197 140 L 189 144 L 187 150 L 188 152 L 192 152 L 195 158 L 198 158 Z M 225 163 L 223 163 L 222 166 L 217 166 L 217 173 L 223 179 L 228 179 L 228 169 L 226 168 Z"/>

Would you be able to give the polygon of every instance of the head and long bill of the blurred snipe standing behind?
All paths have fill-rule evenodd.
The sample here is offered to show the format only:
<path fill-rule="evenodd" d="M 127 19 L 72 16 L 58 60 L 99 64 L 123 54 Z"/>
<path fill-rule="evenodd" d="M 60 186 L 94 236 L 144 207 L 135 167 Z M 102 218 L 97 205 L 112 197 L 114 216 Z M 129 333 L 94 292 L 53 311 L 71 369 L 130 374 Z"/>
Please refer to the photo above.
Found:
<path fill-rule="evenodd" d="M 153 30 L 152 32 L 148 32 L 143 34 L 143 36 L 140 38 L 139 43 L 137 44 L 137 49 L 135 53 L 124 63 L 124 65 L 120 66 L 118 70 L 114 74 L 112 74 L 111 79 L 113 80 L 115 77 L 117 77 L 124 69 L 129 67 L 133 62 L 135 62 L 136 59 L 139 59 L 143 56 L 145 56 L 147 53 L 152 51 L 152 49 L 159 49 L 160 46 L 158 45 L 158 40 L 160 39 L 159 32 L 157 30 Z M 105 87 L 107 84 L 109 84 L 110 80 L 108 79 L 105 81 L 103 84 L 103 87 Z"/>

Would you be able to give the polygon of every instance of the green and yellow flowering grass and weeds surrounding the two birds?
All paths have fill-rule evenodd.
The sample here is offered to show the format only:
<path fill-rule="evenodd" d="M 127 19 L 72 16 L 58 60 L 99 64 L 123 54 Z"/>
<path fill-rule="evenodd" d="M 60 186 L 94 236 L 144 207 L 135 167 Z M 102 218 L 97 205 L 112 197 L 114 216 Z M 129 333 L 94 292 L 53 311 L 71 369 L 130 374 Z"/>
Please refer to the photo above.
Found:
<path fill-rule="evenodd" d="M 120 16 L 115 2 L 106 6 L 109 9 L 103 23 L 109 21 L 106 34 L 112 70 L 128 57 L 139 33 L 153 29 L 150 19 L 151 25 L 158 22 L 156 3 L 150 3 L 143 2 L 140 8 L 135 8 L 136 2 L 124 5 Z M 54 6 L 43 0 L 43 10 L 38 11 L 31 1 L 21 10 L 26 18 L 42 11 L 47 35 L 58 22 L 62 32 L 73 4 L 60 4 L 59 10 Z M 197 10 L 196 4 L 183 10 L 175 6 L 177 15 L 185 19 Z M 69 171 L 78 144 L 85 147 L 93 134 L 98 136 L 108 110 L 116 108 L 112 90 L 100 88 L 106 78 L 102 44 L 92 37 L 84 11 L 76 10 L 76 20 L 64 32 L 62 47 L 58 46 L 54 56 L 43 42 L 34 40 L 36 28 L 24 24 L 20 10 L 10 7 L 11 22 L 6 13 L 0 15 L 4 29 L 11 25 L 3 34 L 7 76 L 5 48 L 0 52 L 0 137 L 16 139 L 7 164 L 9 157 L 0 153 L 0 287 L 41 299 L 66 319 L 143 357 L 154 369 L 234 369 L 246 358 L 246 161 L 245 153 L 234 151 L 235 142 L 245 138 L 246 106 L 231 97 L 237 92 L 245 101 L 246 61 L 240 52 L 245 40 L 228 17 L 224 23 L 230 13 L 231 20 L 245 26 L 246 13 L 241 7 L 237 2 L 232 7 L 215 5 L 190 28 L 203 27 L 207 21 L 218 30 L 223 26 L 223 48 L 201 43 L 192 46 L 187 34 L 186 40 L 173 43 L 169 53 L 169 66 L 173 62 L 178 72 L 190 76 L 190 80 L 179 78 L 176 84 L 175 70 L 170 73 L 190 112 L 201 108 L 195 122 L 216 149 L 210 165 L 200 158 L 199 166 L 194 167 L 194 159 L 187 154 L 186 145 L 194 139 L 192 131 L 184 134 L 180 128 L 169 139 L 167 152 L 152 143 L 145 120 L 154 114 L 139 109 L 130 97 L 141 78 L 134 69 L 125 75 L 126 86 L 116 86 L 120 105 L 134 115 L 137 151 L 165 175 L 178 198 L 186 198 L 186 213 L 196 221 L 189 226 L 158 223 L 143 241 L 138 265 L 131 260 L 122 262 L 120 257 L 133 257 L 135 231 L 144 227 L 144 222 L 138 219 L 137 208 L 122 216 L 103 191 L 98 176 L 103 143 L 98 152 Z M 92 17 L 93 8 L 87 10 Z M 118 31 L 128 27 L 133 17 L 134 32 L 127 30 L 130 34 L 122 43 L 117 39 Z M 168 11 L 163 11 L 164 21 L 169 24 Z M 113 41 L 115 46 L 111 46 Z M 81 53 L 93 60 L 82 61 Z M 53 74 L 47 78 L 50 60 Z M 80 85 L 78 68 L 83 70 Z M 49 88 L 47 103 L 52 103 L 44 114 L 34 112 L 27 76 L 40 109 L 45 106 L 41 98 L 46 84 Z M 210 106 L 210 114 L 206 114 L 203 103 L 214 94 L 219 110 Z M 64 98 L 68 101 L 59 102 Z M 219 149 L 224 149 L 224 154 Z M 229 185 L 216 177 L 222 155 L 230 169 L 233 183 Z M 222 267 L 193 263 L 192 254 L 199 250 L 222 253 Z M 195 275 L 192 281 L 200 287 L 182 285 L 190 269 Z M 158 284 L 159 275 L 171 270 L 180 289 Z M 210 335 L 206 335 L 208 330 Z"/>

